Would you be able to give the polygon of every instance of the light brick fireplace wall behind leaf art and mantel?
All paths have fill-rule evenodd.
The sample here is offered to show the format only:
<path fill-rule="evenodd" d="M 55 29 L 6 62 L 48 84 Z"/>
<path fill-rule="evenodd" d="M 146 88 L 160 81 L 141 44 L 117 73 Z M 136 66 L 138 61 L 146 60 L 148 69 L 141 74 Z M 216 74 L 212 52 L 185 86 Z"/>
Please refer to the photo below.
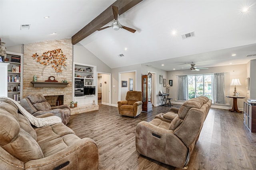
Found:
<path fill-rule="evenodd" d="M 72 99 L 72 52 L 73 46 L 71 38 L 58 39 L 51 41 L 43 41 L 31 44 L 24 44 L 24 67 L 23 67 L 23 98 L 30 94 L 43 94 L 44 96 L 58 96 L 64 95 L 64 104 L 70 105 Z M 47 66 L 44 69 L 43 76 L 41 75 L 43 65 L 36 62 L 32 57 L 34 53 L 42 55 L 44 52 L 62 49 L 63 54 L 66 55 L 66 67 L 62 68 L 62 73 L 56 73 L 54 68 Z M 67 80 L 69 84 L 65 88 L 50 88 L 50 87 L 37 87 L 34 88 L 31 81 L 33 76 L 37 75 L 38 82 L 48 80 L 49 76 L 54 76 L 58 82 Z"/>

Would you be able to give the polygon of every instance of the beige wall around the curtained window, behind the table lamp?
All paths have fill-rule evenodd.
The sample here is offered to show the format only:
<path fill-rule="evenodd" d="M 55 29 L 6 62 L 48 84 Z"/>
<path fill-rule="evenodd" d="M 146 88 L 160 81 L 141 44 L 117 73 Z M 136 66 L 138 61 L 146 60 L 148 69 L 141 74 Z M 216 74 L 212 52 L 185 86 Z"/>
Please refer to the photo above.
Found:
<path fill-rule="evenodd" d="M 247 64 L 230 65 L 230 66 L 218 66 L 209 67 L 209 69 L 201 69 L 200 71 L 190 71 L 190 70 L 176 70 L 168 72 L 168 80 L 173 80 L 173 86 L 170 87 L 170 95 L 173 99 L 177 99 L 178 92 L 178 75 L 194 75 L 194 74 L 212 74 L 224 72 L 225 73 L 225 91 L 226 95 L 233 95 L 234 86 L 230 86 L 232 78 L 239 78 L 242 86 L 237 86 L 236 91 L 240 93 L 240 96 L 246 96 L 247 90 L 245 88 L 245 79 L 247 77 Z M 238 107 L 243 108 L 243 102 L 247 100 L 238 99 Z M 227 104 L 232 106 L 232 98 L 226 98 Z"/>

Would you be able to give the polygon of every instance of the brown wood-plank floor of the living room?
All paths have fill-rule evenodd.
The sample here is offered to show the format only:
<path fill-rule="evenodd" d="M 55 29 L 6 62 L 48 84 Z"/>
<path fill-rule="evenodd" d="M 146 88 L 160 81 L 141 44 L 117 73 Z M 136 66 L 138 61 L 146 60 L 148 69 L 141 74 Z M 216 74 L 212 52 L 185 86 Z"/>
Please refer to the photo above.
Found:
<path fill-rule="evenodd" d="M 180 105 L 173 104 L 179 108 Z M 118 108 L 99 105 L 99 111 L 71 115 L 67 124 L 80 138 L 91 138 L 99 150 L 100 170 L 178 170 L 136 152 L 135 129 L 170 107 L 153 107 L 136 118 L 118 114 Z M 243 123 L 243 114 L 211 108 L 188 163 L 189 170 L 255 170 L 256 133 Z"/>

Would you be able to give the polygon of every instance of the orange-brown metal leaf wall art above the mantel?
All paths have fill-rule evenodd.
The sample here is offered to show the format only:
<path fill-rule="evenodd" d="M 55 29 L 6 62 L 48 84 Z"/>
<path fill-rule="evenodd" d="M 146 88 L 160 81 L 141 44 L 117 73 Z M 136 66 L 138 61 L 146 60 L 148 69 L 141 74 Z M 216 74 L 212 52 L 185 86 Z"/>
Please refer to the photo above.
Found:
<path fill-rule="evenodd" d="M 62 67 L 66 65 L 66 55 L 63 54 L 61 49 L 56 49 L 52 51 L 47 51 L 39 56 L 37 53 L 33 54 L 32 57 L 36 59 L 38 63 L 43 64 L 44 68 L 42 69 L 41 75 L 44 74 L 44 69 L 46 66 L 52 66 L 56 73 L 62 73 Z"/>

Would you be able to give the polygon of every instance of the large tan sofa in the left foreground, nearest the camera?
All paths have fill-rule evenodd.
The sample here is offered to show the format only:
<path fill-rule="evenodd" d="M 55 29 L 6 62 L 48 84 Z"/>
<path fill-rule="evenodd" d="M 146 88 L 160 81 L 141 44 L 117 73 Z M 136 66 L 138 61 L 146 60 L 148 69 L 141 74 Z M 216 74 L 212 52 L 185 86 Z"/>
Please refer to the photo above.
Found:
<path fill-rule="evenodd" d="M 37 117 L 52 116 L 45 113 Z M 66 125 L 34 127 L 10 100 L 0 100 L 0 170 L 98 170 L 98 147 Z"/>

